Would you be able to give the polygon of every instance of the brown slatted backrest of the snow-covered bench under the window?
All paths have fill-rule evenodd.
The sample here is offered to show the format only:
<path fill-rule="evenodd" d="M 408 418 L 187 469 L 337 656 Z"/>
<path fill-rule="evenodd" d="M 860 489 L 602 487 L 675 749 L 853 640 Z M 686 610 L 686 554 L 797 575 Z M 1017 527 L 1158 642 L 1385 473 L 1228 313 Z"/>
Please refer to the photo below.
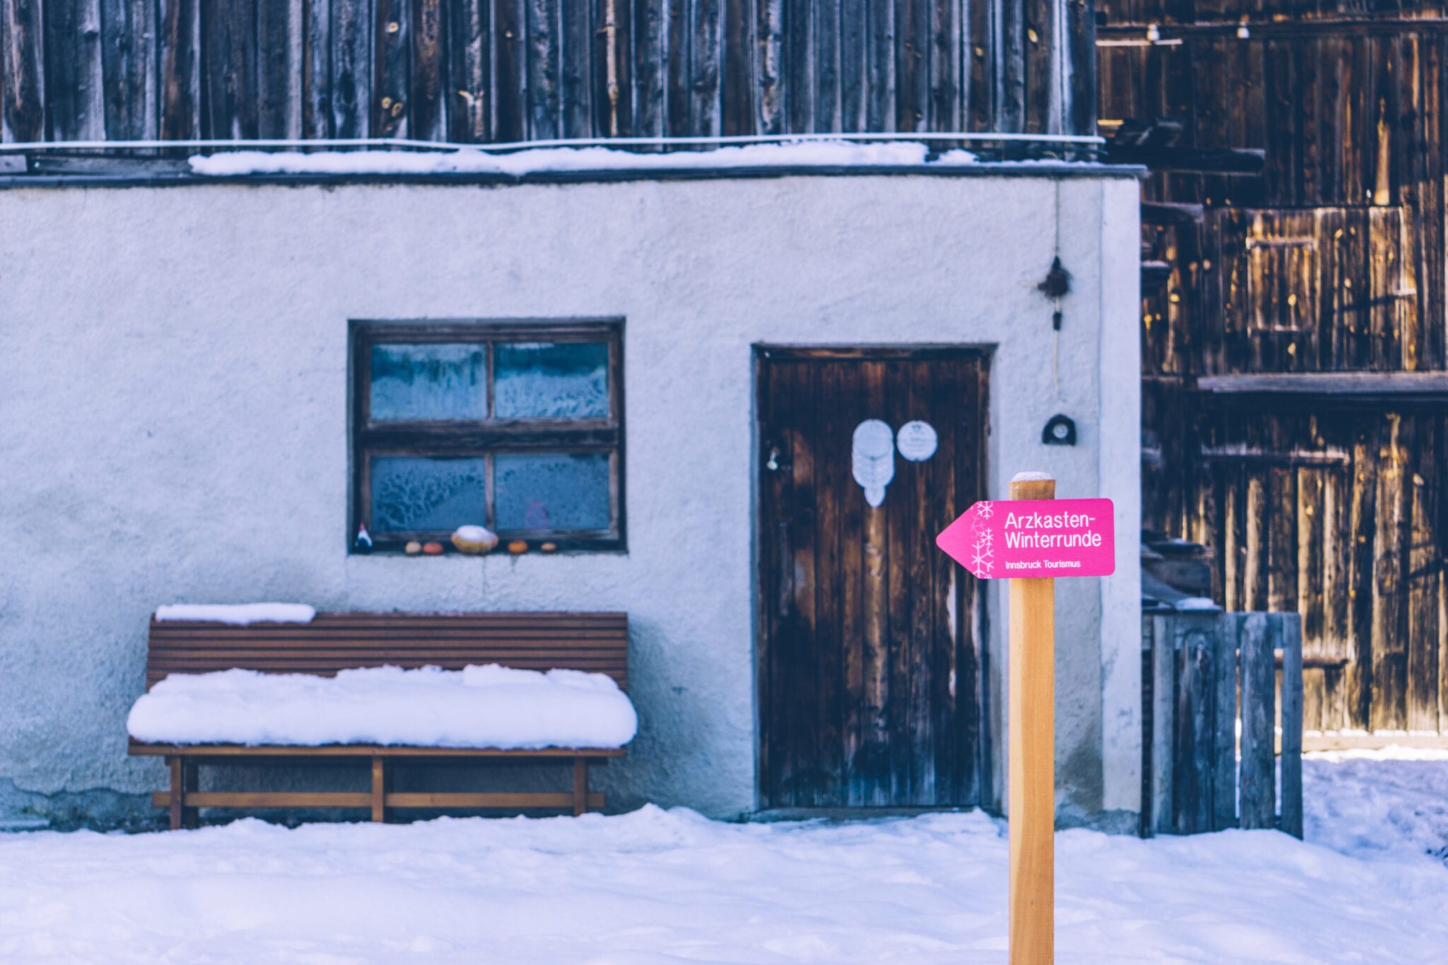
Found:
<path fill-rule="evenodd" d="M 502 664 L 588 670 L 628 686 L 627 613 L 317 613 L 310 624 L 158 622 L 146 689 L 174 673 L 262 670 L 330 677 L 352 667 Z"/>

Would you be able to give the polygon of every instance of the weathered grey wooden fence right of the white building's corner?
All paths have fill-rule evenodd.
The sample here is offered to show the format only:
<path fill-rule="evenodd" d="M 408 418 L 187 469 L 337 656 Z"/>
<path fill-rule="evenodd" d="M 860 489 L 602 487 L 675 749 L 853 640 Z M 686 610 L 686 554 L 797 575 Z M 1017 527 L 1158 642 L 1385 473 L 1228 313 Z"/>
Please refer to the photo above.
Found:
<path fill-rule="evenodd" d="M 1141 647 L 1141 833 L 1302 838 L 1302 618 L 1148 611 Z"/>

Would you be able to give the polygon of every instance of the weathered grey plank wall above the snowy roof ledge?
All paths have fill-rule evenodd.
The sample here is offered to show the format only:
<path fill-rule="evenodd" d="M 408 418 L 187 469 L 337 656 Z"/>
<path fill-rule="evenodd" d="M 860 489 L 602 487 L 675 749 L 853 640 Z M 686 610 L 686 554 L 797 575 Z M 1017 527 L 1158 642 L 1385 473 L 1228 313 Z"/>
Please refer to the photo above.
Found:
<path fill-rule="evenodd" d="M 1090 0 L 0 0 L 4 140 L 1095 133 Z"/>

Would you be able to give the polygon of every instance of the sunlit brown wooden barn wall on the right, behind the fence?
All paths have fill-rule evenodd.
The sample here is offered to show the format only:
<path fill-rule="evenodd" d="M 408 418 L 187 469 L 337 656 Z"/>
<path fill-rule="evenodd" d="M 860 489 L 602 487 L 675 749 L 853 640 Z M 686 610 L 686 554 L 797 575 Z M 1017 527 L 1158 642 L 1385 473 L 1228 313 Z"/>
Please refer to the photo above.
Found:
<path fill-rule="evenodd" d="M 1448 731 L 1448 405 L 1196 391 L 1445 367 L 1448 4 L 1099 7 L 1103 120 L 1173 117 L 1184 143 L 1266 150 L 1263 177 L 1161 171 L 1144 188 L 1202 205 L 1144 213 L 1144 258 L 1171 268 L 1142 301 L 1145 525 L 1211 545 L 1229 609 L 1302 613 L 1309 729 Z M 1125 45 L 1148 23 L 1180 43 Z"/>

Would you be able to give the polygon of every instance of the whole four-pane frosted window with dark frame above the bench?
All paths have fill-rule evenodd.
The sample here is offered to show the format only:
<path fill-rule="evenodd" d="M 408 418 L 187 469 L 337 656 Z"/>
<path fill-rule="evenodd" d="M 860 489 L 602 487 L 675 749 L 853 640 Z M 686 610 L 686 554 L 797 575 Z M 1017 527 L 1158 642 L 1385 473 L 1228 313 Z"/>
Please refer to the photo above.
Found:
<path fill-rule="evenodd" d="M 623 326 L 353 323 L 356 525 L 618 550 Z"/>

